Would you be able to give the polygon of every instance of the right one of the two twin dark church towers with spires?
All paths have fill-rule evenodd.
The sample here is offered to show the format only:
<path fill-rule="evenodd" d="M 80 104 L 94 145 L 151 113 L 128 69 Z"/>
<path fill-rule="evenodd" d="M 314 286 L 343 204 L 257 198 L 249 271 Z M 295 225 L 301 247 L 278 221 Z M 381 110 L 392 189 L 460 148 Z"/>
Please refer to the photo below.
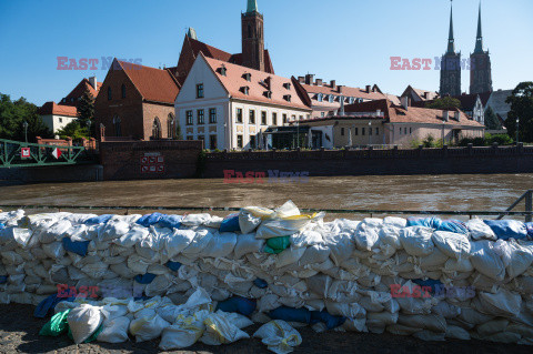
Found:
<path fill-rule="evenodd" d="M 470 54 L 470 93 L 492 92 L 492 68 L 489 51 L 483 51 L 483 36 L 481 32 L 481 2 L 477 18 L 477 36 L 475 49 Z"/>

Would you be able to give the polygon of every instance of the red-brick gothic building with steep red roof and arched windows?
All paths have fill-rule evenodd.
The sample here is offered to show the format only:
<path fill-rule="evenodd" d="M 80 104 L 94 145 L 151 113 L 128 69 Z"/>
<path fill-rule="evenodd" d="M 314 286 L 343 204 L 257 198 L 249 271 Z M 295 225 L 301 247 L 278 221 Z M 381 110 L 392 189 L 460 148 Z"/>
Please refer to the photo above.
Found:
<path fill-rule="evenodd" d="M 114 59 L 94 102 L 98 139 L 177 138 L 173 105 L 179 91 L 169 70 Z M 98 129 L 102 125 L 105 136 Z"/>

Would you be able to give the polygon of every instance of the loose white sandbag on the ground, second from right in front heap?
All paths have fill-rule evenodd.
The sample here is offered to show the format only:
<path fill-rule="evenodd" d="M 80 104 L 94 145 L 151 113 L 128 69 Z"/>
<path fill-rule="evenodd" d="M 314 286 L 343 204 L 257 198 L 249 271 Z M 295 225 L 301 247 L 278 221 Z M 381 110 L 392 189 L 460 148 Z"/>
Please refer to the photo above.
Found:
<path fill-rule="evenodd" d="M 250 336 L 237 327 L 222 311 L 210 314 L 204 320 L 205 331 L 200 342 L 207 345 L 230 344 Z"/>

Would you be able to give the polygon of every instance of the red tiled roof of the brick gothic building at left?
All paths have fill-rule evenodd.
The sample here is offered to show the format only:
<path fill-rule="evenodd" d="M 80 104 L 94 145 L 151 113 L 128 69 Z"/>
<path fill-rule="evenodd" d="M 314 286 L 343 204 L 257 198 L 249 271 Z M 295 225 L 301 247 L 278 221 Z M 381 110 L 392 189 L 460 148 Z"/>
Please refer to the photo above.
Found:
<path fill-rule="evenodd" d="M 117 59 L 115 59 L 117 60 Z M 168 70 L 118 60 L 120 67 L 147 101 L 174 103 L 180 92 L 178 82 Z"/>

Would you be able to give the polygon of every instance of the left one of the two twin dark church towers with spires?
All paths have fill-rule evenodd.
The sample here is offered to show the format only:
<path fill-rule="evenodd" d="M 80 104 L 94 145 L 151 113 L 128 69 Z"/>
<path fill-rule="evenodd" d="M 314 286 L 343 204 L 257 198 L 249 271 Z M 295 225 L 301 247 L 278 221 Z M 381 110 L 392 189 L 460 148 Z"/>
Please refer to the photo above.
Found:
<path fill-rule="evenodd" d="M 461 95 L 461 52 L 455 52 L 453 38 L 453 6 L 450 11 L 450 36 L 447 50 L 441 61 L 441 97 L 446 94 Z"/>

